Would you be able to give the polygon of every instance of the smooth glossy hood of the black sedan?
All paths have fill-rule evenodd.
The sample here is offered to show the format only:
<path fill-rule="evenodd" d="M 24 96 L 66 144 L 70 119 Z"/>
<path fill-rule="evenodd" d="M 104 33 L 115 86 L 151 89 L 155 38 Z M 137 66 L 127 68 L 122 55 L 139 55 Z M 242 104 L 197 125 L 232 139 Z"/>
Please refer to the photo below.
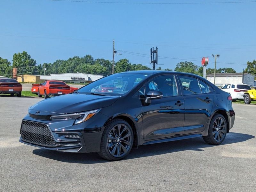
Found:
<path fill-rule="evenodd" d="M 66 94 L 40 101 L 31 106 L 28 112 L 37 115 L 76 113 L 108 107 L 118 99 L 118 96 Z"/>

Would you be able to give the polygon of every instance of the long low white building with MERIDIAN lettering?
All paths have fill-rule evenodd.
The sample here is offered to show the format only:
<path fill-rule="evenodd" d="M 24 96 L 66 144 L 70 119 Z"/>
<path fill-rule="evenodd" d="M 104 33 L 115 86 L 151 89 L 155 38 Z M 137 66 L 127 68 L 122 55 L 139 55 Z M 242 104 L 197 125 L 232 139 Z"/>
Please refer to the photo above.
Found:
<path fill-rule="evenodd" d="M 96 81 L 102 78 L 102 75 L 92 75 L 85 73 L 62 73 L 62 74 L 51 74 L 51 75 L 41 75 L 41 80 L 60 80 L 65 82 L 90 82 Z"/>

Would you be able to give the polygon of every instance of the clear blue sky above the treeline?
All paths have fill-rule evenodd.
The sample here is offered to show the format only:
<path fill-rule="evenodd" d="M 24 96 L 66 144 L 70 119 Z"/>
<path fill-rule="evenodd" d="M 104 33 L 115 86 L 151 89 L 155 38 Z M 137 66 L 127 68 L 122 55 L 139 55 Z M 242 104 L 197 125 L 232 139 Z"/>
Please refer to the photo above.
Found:
<path fill-rule="evenodd" d="M 195 60 L 192 62 L 196 65 L 201 65 L 202 57 L 210 56 L 211 63 L 207 66 L 210 68 L 214 67 L 211 55 L 220 54 L 217 68 L 232 67 L 241 72 L 246 65 L 238 64 L 256 59 L 255 8 L 256 3 L 103 4 L 1 0 L 0 57 L 12 61 L 14 53 L 27 51 L 37 64 L 86 54 L 94 59 L 112 60 L 112 40 L 115 39 L 116 50 L 149 55 L 149 49 L 157 46 L 159 56 Z M 132 63 L 149 63 L 149 56 L 127 52 L 117 51 L 122 55 L 116 55 L 115 60 L 127 58 Z M 185 60 L 158 59 L 160 67 L 171 69 L 180 61 Z"/>

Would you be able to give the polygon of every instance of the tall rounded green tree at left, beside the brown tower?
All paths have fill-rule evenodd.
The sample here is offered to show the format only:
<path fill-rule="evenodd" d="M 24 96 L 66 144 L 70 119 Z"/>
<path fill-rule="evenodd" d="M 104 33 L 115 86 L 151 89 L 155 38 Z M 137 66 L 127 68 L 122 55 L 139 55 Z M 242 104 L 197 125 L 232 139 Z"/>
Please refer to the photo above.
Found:
<path fill-rule="evenodd" d="M 25 51 L 14 53 L 12 67 L 18 68 L 17 75 L 33 74 L 36 71 L 36 60 L 32 59 Z"/>

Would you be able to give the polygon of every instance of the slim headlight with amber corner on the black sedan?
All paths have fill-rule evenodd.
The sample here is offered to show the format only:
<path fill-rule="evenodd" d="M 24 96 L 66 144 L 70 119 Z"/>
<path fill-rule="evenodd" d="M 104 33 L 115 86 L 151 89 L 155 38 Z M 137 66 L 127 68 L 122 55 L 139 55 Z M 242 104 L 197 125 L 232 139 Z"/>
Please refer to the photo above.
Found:
<path fill-rule="evenodd" d="M 98 111 L 100 111 L 100 109 L 96 109 L 93 111 L 86 111 L 86 112 L 81 112 L 81 113 L 71 113 L 71 114 L 65 114 L 65 115 L 53 115 L 50 117 L 50 119 L 52 120 L 68 120 L 68 119 L 75 119 L 75 123 L 79 124 L 79 123 L 83 123 L 84 121 L 87 121 L 88 119 L 90 119 L 92 116 L 94 116 Z"/>

